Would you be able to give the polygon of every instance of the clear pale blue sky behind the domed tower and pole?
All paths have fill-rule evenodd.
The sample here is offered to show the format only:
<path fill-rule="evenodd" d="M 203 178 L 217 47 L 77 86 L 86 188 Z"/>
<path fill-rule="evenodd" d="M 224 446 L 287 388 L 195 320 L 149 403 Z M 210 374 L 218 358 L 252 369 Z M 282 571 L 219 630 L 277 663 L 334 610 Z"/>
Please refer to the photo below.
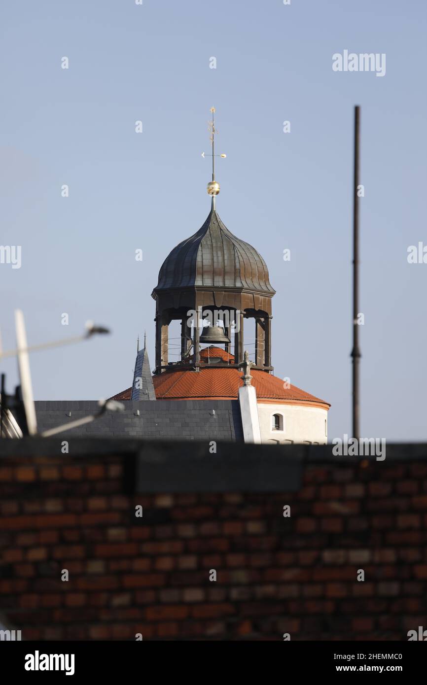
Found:
<path fill-rule="evenodd" d="M 32 353 L 35 398 L 129 387 L 144 330 L 154 369 L 151 291 L 210 210 L 215 105 L 217 210 L 267 262 L 274 374 L 330 402 L 329 440 L 351 435 L 358 104 L 361 435 L 427 440 L 427 263 L 408 263 L 427 246 L 426 16 L 424 0 L 3 3 L 0 245 L 21 246 L 20 268 L 0 264 L 3 348 L 16 308 L 29 344 L 112 330 Z M 385 54 L 385 74 L 334 71 L 345 50 Z M 12 393 L 16 360 L 0 371 Z"/>

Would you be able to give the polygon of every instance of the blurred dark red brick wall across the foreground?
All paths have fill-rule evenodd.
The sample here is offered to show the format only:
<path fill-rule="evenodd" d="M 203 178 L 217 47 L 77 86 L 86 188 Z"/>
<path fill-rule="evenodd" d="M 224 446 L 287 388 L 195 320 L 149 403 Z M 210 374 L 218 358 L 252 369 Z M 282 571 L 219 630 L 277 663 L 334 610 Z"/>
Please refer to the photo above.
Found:
<path fill-rule="evenodd" d="M 0 622 L 23 639 L 406 640 L 427 625 L 425 446 L 385 462 L 258 447 L 296 460 L 300 482 L 136 493 L 134 447 L 14 443 L 0 458 Z"/>

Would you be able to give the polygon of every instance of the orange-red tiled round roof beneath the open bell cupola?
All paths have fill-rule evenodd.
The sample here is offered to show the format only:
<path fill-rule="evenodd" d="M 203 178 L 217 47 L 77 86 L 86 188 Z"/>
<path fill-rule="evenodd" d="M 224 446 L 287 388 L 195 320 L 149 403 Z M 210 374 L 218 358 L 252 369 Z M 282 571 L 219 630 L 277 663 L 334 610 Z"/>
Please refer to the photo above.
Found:
<path fill-rule="evenodd" d="M 202 359 L 207 358 L 208 349 L 210 357 L 234 360 L 232 355 L 213 346 L 201 351 Z M 330 407 L 325 400 L 310 395 L 297 386 L 284 388 L 283 379 L 270 373 L 251 369 L 251 375 L 258 400 L 308 402 L 321 404 L 326 409 Z M 153 383 L 156 399 L 237 399 L 239 388 L 243 386 L 241 369 L 215 366 L 202 367 L 199 371 L 165 371 L 153 376 Z M 130 399 L 131 393 L 132 388 L 128 388 L 123 393 L 114 395 L 113 399 Z"/>

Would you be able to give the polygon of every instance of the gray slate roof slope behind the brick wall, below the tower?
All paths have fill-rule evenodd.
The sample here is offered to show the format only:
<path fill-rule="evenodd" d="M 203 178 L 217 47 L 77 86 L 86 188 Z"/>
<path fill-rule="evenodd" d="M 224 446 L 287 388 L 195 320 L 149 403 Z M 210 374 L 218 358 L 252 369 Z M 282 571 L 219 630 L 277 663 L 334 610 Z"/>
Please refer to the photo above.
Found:
<path fill-rule="evenodd" d="M 127 400 L 123 404 L 123 412 L 106 412 L 92 423 L 64 430 L 64 435 L 70 438 L 243 441 L 238 400 Z M 96 401 L 36 401 L 35 405 L 39 432 L 99 412 Z"/>

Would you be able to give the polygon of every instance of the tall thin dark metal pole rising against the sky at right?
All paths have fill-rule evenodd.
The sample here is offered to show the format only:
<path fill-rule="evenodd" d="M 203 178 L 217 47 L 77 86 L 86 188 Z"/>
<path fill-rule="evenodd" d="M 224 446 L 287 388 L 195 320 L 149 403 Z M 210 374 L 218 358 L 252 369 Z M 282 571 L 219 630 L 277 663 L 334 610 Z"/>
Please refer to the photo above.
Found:
<path fill-rule="evenodd" d="M 352 413 L 353 413 L 353 438 L 360 438 L 360 401 L 359 401 L 359 364 L 361 351 L 358 345 L 358 265 L 359 265 L 359 147 L 360 147 L 360 107 L 354 108 L 354 186 L 353 186 L 353 384 L 352 384 Z"/>

